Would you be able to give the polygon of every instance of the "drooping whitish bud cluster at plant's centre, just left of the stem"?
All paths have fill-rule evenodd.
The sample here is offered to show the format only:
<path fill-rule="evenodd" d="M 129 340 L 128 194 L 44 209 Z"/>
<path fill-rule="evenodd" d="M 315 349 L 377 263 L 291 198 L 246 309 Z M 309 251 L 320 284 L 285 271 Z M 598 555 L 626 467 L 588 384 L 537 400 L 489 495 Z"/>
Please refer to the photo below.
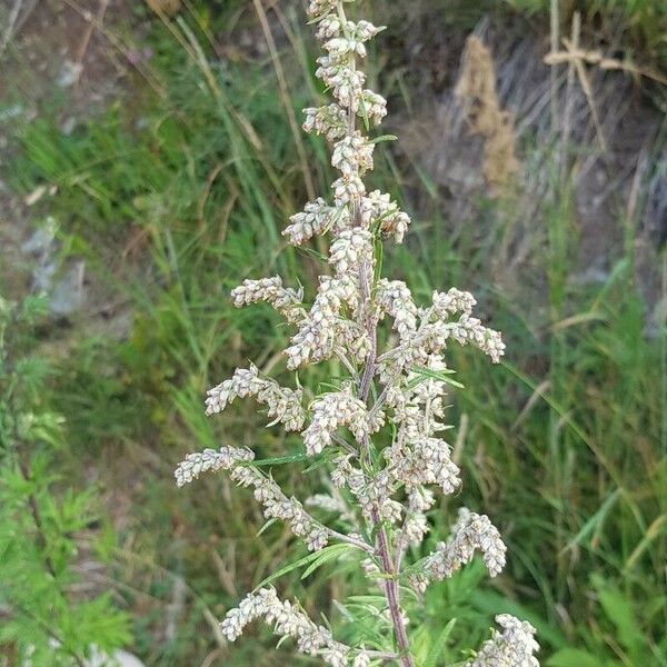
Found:
<path fill-rule="evenodd" d="M 308 455 L 320 454 L 342 426 L 347 426 L 358 439 L 368 428 L 366 406 L 352 395 L 349 385 L 340 391 L 325 394 L 312 404 L 312 419 L 301 434 Z"/>

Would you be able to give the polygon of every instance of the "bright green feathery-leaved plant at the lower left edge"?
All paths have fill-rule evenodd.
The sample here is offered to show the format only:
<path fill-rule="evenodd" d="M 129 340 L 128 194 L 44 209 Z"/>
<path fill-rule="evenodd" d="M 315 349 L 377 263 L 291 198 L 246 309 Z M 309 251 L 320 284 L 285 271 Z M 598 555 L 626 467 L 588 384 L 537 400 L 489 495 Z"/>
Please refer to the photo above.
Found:
<path fill-rule="evenodd" d="M 49 411 L 49 367 L 29 356 L 40 299 L 0 301 L 0 647 L 39 666 L 83 665 L 93 647 L 130 640 L 110 594 L 73 590 L 77 536 L 94 520 L 94 488 L 77 491 L 56 472 L 62 419 Z"/>

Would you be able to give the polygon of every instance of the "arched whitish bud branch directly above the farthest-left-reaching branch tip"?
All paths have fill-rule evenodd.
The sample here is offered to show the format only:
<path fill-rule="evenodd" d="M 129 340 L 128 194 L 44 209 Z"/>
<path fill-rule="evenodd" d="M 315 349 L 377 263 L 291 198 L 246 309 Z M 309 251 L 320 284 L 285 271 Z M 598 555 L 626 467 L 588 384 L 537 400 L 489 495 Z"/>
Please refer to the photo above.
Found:
<path fill-rule="evenodd" d="M 255 365 L 247 369 L 238 368 L 230 379 L 209 389 L 207 394 L 208 416 L 220 412 L 237 397 L 253 396 L 268 407 L 273 424 L 280 421 L 286 430 L 300 430 L 306 420 L 306 411 L 301 407 L 302 389 L 280 387 L 275 380 L 260 378 Z"/>

